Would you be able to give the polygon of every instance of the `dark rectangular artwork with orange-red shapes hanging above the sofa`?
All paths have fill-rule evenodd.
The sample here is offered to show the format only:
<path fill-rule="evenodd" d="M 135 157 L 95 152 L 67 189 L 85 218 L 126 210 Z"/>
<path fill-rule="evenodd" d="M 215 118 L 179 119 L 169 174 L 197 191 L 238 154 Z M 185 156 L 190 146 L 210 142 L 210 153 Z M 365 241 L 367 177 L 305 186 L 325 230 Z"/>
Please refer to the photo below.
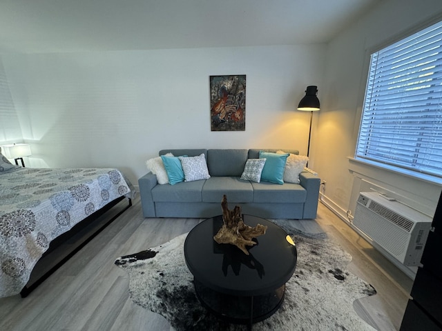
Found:
<path fill-rule="evenodd" d="M 212 131 L 246 130 L 246 75 L 210 77 Z"/>

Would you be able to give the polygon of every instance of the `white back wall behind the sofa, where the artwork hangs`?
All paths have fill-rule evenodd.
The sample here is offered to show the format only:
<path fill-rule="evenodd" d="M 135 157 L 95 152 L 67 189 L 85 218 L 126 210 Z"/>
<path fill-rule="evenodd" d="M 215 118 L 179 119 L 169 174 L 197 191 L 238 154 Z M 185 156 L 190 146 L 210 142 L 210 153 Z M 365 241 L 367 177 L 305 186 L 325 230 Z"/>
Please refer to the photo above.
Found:
<path fill-rule="evenodd" d="M 326 45 L 3 54 L 31 166 L 117 167 L 137 184 L 162 148 L 307 152 L 307 85 Z M 246 130 L 211 132 L 209 75 L 246 74 Z M 1 144 L 1 143 L 0 143 Z"/>

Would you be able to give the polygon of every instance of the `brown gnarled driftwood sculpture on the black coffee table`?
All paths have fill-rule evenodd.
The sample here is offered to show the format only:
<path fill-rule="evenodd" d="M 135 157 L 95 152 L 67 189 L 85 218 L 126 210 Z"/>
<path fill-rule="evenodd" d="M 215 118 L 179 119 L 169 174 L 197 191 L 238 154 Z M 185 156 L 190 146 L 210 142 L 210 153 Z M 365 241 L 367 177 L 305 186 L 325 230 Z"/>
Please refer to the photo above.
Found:
<path fill-rule="evenodd" d="M 244 254 L 249 255 L 246 246 L 255 245 L 256 242 L 251 239 L 265 234 L 267 225 L 258 224 L 255 228 L 252 228 L 244 224 L 241 217 L 241 207 L 237 205 L 233 210 L 229 210 L 225 194 L 222 197 L 221 207 L 223 224 L 213 239 L 217 243 L 236 245 Z"/>

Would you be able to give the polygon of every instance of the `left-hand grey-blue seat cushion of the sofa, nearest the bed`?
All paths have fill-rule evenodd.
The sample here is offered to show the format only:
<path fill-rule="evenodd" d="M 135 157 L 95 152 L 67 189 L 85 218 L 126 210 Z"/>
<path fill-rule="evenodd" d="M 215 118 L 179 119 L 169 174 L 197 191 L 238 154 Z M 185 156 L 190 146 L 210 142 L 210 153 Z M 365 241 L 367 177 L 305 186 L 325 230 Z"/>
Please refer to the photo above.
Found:
<path fill-rule="evenodd" d="M 204 181 L 181 182 L 175 185 L 156 185 L 152 189 L 155 202 L 201 202 Z"/>

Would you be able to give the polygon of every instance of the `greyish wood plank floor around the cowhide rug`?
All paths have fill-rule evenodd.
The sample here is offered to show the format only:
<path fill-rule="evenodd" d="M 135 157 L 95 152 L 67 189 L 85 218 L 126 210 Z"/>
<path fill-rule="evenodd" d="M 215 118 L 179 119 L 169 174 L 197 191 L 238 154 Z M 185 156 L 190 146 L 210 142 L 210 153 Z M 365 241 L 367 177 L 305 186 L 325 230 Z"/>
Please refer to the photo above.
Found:
<path fill-rule="evenodd" d="M 169 241 L 199 222 L 144 219 L 140 199 L 135 199 L 132 208 L 28 297 L 0 299 L 0 330 L 171 330 L 163 317 L 132 303 L 128 277 L 113 261 Z M 316 220 L 294 222 L 307 232 L 329 233 L 352 254 L 349 270 L 378 291 L 355 301 L 355 310 L 377 330 L 398 330 L 412 280 L 322 204 Z"/>

